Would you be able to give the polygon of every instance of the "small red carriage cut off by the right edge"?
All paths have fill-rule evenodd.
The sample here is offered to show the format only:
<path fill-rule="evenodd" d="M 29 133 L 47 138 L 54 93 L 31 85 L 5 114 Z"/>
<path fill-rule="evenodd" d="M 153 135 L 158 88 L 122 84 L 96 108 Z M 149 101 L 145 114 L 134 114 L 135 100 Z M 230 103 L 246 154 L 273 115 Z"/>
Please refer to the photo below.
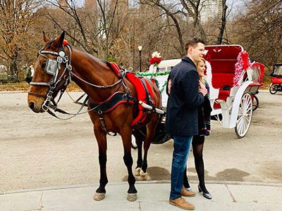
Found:
<path fill-rule="evenodd" d="M 282 91 L 282 63 L 274 64 L 274 68 L 270 76 L 271 84 L 269 92 L 271 94 L 276 94 L 277 91 Z"/>

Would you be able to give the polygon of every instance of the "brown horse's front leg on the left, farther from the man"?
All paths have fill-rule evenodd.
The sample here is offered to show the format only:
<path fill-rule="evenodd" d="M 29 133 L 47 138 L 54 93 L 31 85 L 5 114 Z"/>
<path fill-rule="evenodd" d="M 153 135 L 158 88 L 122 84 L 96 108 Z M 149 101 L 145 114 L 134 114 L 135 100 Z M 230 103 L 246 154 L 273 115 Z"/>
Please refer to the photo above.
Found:
<path fill-rule="evenodd" d="M 97 188 L 94 194 L 94 200 L 103 200 L 106 193 L 106 184 L 108 178 L 106 177 L 106 133 L 100 127 L 94 127 L 94 134 L 97 139 L 99 148 L 99 166 L 100 166 L 100 181 L 99 188 Z"/>

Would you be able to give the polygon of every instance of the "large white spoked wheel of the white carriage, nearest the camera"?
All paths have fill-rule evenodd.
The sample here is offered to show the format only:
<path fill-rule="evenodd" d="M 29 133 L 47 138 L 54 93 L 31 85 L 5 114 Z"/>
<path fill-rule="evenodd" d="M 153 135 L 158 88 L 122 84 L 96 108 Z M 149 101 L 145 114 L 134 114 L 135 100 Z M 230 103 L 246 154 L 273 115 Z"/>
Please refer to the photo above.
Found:
<path fill-rule="evenodd" d="M 237 116 L 235 133 L 239 139 L 243 138 L 250 128 L 252 122 L 252 96 L 250 93 L 243 94 Z"/>

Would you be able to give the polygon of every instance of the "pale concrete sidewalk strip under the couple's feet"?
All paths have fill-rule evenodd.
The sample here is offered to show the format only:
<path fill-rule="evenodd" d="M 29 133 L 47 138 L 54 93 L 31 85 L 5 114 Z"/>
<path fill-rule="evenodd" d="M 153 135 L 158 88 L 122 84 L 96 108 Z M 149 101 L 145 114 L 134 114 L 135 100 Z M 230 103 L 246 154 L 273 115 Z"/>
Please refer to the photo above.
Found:
<path fill-rule="evenodd" d="M 191 186 L 196 190 L 195 182 Z M 196 210 L 282 210 L 282 184 L 210 181 L 207 187 L 212 200 L 198 192 L 195 197 L 186 198 Z M 126 182 L 108 184 L 102 201 L 92 199 L 96 188 L 80 185 L 0 193 L 0 210 L 180 210 L 168 203 L 168 181 L 137 182 L 135 202 L 126 200 Z"/>

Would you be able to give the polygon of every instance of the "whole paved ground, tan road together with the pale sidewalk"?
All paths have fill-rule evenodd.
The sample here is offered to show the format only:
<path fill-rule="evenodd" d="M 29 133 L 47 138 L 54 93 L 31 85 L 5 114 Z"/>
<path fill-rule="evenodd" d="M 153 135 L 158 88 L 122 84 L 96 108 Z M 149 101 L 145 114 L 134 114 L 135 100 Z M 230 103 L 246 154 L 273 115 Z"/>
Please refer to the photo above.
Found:
<path fill-rule="evenodd" d="M 99 162 L 89 117 L 62 122 L 47 114 L 35 115 L 27 108 L 26 95 L 0 94 L 0 211 L 179 210 L 168 204 L 172 141 L 151 146 L 150 181 L 137 181 L 138 199 L 130 203 L 121 141 L 109 137 L 109 184 L 106 198 L 97 202 L 92 197 Z M 282 210 L 282 94 L 261 92 L 259 101 L 244 139 L 218 122 L 212 125 L 204 159 L 213 199 L 199 193 L 188 198 L 196 210 Z M 70 104 L 62 99 L 62 106 L 72 108 Z M 136 160 L 135 151 L 133 157 Z M 197 190 L 193 162 L 190 156 L 188 175 Z"/>

